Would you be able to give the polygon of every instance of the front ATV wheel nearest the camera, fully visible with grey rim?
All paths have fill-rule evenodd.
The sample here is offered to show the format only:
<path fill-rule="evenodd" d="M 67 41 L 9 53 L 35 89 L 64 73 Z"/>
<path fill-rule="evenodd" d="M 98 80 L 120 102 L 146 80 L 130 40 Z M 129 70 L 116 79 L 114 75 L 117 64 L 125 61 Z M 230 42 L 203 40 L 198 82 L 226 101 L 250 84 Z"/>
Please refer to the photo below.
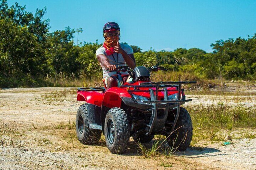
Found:
<path fill-rule="evenodd" d="M 111 153 L 123 153 L 130 141 L 130 126 L 125 111 L 114 107 L 107 112 L 104 132 Z"/>

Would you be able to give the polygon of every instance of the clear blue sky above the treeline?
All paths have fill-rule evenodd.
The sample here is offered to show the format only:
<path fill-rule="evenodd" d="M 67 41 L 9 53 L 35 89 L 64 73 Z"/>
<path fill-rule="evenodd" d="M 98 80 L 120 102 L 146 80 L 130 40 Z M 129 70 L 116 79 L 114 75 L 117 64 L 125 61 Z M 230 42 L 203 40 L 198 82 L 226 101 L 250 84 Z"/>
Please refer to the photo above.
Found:
<path fill-rule="evenodd" d="M 8 0 L 27 11 L 46 7 L 50 31 L 83 29 L 81 42 L 104 41 L 102 29 L 115 21 L 121 29 L 120 42 L 156 51 L 175 48 L 200 48 L 212 51 L 216 40 L 256 33 L 256 1 L 85 1 L 85 0 Z M 76 35 L 77 36 L 77 35 Z M 76 42 L 76 37 L 75 37 Z"/>

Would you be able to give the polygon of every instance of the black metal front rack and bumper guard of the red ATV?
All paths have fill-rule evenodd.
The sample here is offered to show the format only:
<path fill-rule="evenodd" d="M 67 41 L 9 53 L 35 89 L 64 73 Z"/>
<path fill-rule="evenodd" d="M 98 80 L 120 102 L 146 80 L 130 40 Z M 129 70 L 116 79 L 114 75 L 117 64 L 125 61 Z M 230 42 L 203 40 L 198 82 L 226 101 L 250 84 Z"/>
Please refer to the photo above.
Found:
<path fill-rule="evenodd" d="M 169 104 L 176 104 L 177 105 L 177 113 L 175 115 L 175 119 L 173 122 L 173 125 L 171 127 L 171 130 L 168 132 L 168 134 L 171 134 L 174 131 L 175 125 L 178 121 L 178 117 L 180 115 L 180 104 L 192 101 L 192 99 L 182 100 L 181 96 L 184 92 L 184 89 L 181 89 L 181 84 L 195 84 L 197 82 L 144 82 L 140 83 L 140 85 L 121 85 L 121 87 L 128 87 L 133 88 L 133 90 L 127 90 L 128 93 L 131 95 L 133 101 L 136 104 L 142 104 L 142 105 L 151 105 L 152 106 L 152 116 L 149 122 L 149 125 L 146 125 L 149 127 L 147 130 L 148 132 L 146 135 L 151 134 L 152 130 L 156 130 L 161 128 L 162 124 L 166 122 L 168 111 L 169 111 Z M 176 87 L 176 89 L 170 89 L 167 90 L 167 87 Z M 149 90 L 140 90 L 140 88 L 149 88 Z M 153 90 L 152 88 L 155 88 Z M 163 89 L 159 89 L 163 88 Z M 158 100 L 158 92 L 163 91 L 164 92 L 164 100 Z M 168 91 L 178 91 L 178 100 L 168 100 Z M 150 99 L 151 100 L 143 100 L 143 103 L 138 103 L 135 98 L 133 97 L 133 92 L 149 92 L 150 93 Z M 157 111 L 158 107 L 164 110 L 164 118 L 157 118 Z"/>

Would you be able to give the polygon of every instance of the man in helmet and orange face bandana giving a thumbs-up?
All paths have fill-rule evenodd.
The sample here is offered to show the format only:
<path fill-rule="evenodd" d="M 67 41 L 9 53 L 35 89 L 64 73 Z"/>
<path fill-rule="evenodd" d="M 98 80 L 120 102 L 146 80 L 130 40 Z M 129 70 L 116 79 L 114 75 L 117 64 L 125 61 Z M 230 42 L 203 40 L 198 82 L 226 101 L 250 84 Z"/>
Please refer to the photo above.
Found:
<path fill-rule="evenodd" d="M 106 90 L 111 87 L 119 87 L 121 82 L 113 76 L 113 71 L 117 66 L 128 65 L 134 69 L 136 67 L 133 49 L 130 45 L 120 44 L 120 27 L 115 22 L 108 22 L 103 27 L 103 37 L 105 39 L 103 46 L 98 48 L 96 56 L 101 64 L 103 71 L 103 81 Z M 121 73 L 123 82 L 131 81 L 127 72 Z"/>

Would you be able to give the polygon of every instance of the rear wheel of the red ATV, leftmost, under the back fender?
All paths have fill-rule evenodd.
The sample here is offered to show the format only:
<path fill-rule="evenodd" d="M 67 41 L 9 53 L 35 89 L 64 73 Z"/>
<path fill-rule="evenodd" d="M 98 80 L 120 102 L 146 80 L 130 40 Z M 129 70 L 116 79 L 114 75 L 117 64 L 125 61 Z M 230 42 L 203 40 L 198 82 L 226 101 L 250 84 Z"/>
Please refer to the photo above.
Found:
<path fill-rule="evenodd" d="M 82 144 L 94 144 L 101 138 L 101 130 L 89 129 L 87 104 L 79 107 L 76 114 L 75 127 L 77 138 Z"/>

